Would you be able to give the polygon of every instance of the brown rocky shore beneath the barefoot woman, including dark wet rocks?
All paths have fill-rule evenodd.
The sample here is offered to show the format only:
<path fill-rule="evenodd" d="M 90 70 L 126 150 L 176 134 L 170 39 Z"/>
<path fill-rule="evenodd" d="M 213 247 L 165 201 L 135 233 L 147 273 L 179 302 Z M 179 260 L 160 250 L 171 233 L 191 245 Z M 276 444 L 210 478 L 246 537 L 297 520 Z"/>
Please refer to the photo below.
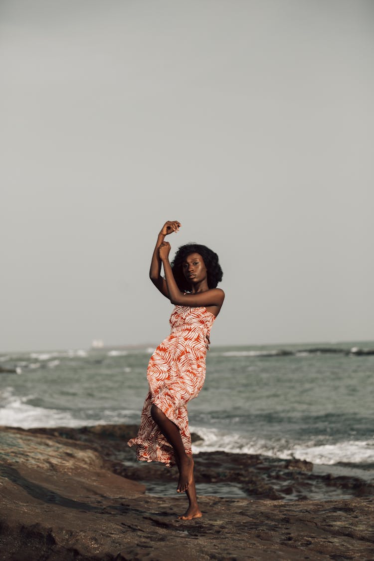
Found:
<path fill-rule="evenodd" d="M 176 471 L 135 463 L 126 442 L 136 429 L 1 427 L 1 561 L 374 559 L 370 482 L 297 460 L 200 453 L 197 485 L 237 495 L 204 493 L 203 517 L 182 522 L 184 496 L 149 494 L 173 489 Z"/>

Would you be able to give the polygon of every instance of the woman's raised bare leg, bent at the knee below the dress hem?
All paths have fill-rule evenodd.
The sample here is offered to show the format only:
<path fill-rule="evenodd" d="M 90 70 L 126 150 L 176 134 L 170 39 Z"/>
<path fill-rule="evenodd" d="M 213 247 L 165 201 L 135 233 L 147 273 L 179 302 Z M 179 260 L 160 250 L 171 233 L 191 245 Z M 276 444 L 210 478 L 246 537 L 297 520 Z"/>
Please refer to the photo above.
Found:
<path fill-rule="evenodd" d="M 161 433 L 165 436 L 174 450 L 179 470 L 177 493 L 184 493 L 184 491 L 188 490 L 193 481 L 192 456 L 190 454 L 186 454 L 186 450 L 184 450 L 181 433 L 179 433 L 177 425 L 175 425 L 173 421 L 170 421 L 170 419 L 168 419 L 168 417 L 164 415 L 160 408 L 155 406 L 155 404 L 152 404 L 150 413 Z"/>

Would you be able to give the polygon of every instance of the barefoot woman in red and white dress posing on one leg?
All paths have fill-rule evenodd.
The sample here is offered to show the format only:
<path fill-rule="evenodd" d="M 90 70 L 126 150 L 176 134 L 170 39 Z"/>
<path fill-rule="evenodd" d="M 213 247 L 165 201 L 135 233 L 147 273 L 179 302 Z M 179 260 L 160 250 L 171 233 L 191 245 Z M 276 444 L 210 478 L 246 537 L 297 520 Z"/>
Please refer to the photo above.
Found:
<path fill-rule="evenodd" d="M 178 220 L 165 222 L 153 252 L 150 279 L 176 305 L 170 317 L 172 327 L 150 358 L 147 369 L 149 393 L 141 414 L 136 438 L 137 458 L 177 464 L 178 493 L 186 492 L 189 506 L 183 520 L 202 516 L 197 504 L 187 402 L 200 392 L 205 379 L 205 356 L 209 332 L 224 301 L 216 288 L 222 279 L 218 255 L 205 246 L 179 247 L 172 265 L 170 243 L 165 236 L 178 232 Z M 165 278 L 161 277 L 161 264 Z"/>

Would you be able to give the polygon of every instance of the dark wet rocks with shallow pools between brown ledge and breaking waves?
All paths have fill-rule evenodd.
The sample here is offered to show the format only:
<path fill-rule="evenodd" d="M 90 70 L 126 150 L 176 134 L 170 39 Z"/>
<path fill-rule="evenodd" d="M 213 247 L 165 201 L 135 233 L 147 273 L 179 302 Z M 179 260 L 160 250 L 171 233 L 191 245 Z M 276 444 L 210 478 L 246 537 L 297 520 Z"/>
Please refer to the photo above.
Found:
<path fill-rule="evenodd" d="M 85 444 L 105 458 L 105 467 L 116 475 L 139 481 L 151 496 L 174 496 L 177 467 L 159 462 L 138 462 L 135 447 L 127 440 L 136 436 L 138 425 L 90 425 L 82 427 L 3 427 L 9 431 L 52 436 Z M 1 430 L 1 427 L 0 427 Z M 192 433 L 192 444 L 201 440 Z M 214 450 L 194 452 L 197 493 L 220 498 L 340 500 L 374 495 L 374 468 L 347 463 L 322 465 L 297 458 L 278 458 Z"/>

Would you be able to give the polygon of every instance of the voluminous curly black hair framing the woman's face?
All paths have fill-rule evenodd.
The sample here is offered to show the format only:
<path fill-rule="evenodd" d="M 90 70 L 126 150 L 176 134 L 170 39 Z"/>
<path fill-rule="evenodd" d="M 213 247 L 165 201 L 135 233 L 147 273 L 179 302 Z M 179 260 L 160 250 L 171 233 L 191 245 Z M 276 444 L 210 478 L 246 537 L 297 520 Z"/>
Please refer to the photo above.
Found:
<path fill-rule="evenodd" d="M 176 255 L 172 261 L 172 270 L 174 279 L 178 284 L 180 291 L 190 290 L 190 284 L 183 274 L 183 261 L 191 255 L 191 253 L 198 253 L 201 255 L 206 266 L 206 280 L 209 288 L 215 288 L 217 284 L 222 280 L 223 272 L 221 266 L 218 262 L 218 255 L 209 249 L 209 247 L 200 245 L 200 243 L 186 243 L 178 248 Z"/>

